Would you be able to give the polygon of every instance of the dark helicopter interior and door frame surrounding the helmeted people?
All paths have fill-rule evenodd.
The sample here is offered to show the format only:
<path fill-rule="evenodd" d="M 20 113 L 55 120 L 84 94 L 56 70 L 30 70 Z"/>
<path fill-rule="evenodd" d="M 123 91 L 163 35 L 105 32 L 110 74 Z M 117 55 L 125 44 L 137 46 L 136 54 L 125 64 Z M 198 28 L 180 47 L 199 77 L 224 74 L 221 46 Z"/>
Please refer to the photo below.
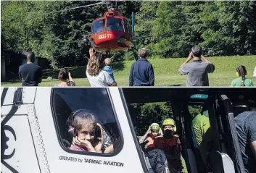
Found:
<path fill-rule="evenodd" d="M 236 111 L 234 103 L 242 96 L 243 100 L 249 101 L 247 109 L 255 110 L 256 104 L 252 101 L 255 98 L 252 93 L 255 93 L 255 90 L 239 88 L 123 88 L 128 107 L 134 103 L 170 102 L 188 172 L 243 172 L 244 165 L 234 125 L 236 114 L 233 109 Z M 222 100 L 222 96 L 230 99 Z M 210 128 L 205 133 L 208 137 L 204 143 L 206 151 L 202 152 L 196 145 L 191 125 L 203 107 L 209 112 Z M 191 108 L 196 108 L 197 111 L 191 111 Z M 130 116 L 134 125 L 137 121 L 136 115 L 130 112 Z M 138 136 L 136 131 L 139 127 L 134 128 L 134 133 Z M 139 148 L 139 151 L 143 150 Z"/>

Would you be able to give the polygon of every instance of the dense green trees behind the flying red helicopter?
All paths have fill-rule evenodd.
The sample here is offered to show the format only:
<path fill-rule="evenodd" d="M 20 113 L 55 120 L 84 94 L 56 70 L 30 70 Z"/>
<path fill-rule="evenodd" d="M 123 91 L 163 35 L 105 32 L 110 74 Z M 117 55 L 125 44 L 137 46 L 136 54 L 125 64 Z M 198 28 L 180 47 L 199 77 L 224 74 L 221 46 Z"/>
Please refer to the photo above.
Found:
<path fill-rule="evenodd" d="M 57 12 L 99 1 L 1 1 L 1 54 L 33 50 L 51 67 L 86 64 L 91 22 L 106 5 Z M 150 56 L 179 58 L 199 44 L 207 56 L 256 54 L 256 1 L 121 1 L 118 9 L 131 22 L 136 41 Z M 131 52 L 118 56 L 133 59 Z M 9 63 L 17 62 L 10 56 Z"/>

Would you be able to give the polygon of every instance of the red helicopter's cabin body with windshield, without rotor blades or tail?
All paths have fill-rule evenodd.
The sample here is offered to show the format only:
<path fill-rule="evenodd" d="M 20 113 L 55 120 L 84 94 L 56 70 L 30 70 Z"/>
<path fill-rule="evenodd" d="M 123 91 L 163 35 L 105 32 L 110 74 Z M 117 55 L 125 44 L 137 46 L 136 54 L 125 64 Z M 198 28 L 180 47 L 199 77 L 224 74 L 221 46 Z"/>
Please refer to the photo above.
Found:
<path fill-rule="evenodd" d="M 121 12 L 110 9 L 91 24 L 89 41 L 95 51 L 128 51 L 133 46 L 133 33 L 128 20 Z"/>

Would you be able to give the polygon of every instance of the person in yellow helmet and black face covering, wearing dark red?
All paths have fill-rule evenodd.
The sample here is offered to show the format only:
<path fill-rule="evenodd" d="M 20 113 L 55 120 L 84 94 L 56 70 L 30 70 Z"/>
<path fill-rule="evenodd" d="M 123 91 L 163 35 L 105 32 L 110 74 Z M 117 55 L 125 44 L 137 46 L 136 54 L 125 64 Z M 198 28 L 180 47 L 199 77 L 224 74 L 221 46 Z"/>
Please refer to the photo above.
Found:
<path fill-rule="evenodd" d="M 176 124 L 173 119 L 165 119 L 162 122 L 163 135 L 155 138 L 155 148 L 160 148 L 165 152 L 168 160 L 168 167 L 170 170 L 175 169 L 181 172 L 183 169 L 181 162 L 181 142 L 177 136 L 174 135 Z"/>

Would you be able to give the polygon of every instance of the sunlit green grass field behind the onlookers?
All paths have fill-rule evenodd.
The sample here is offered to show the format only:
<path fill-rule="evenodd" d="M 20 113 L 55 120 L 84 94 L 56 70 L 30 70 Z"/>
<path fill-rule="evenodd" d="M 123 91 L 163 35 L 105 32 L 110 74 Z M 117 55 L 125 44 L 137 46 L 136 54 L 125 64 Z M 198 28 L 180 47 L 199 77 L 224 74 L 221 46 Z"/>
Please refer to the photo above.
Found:
<path fill-rule="evenodd" d="M 247 67 L 247 78 L 256 85 L 256 79 L 252 77 L 252 72 L 256 66 L 256 56 L 219 56 L 210 57 L 210 61 L 215 64 L 215 72 L 209 74 L 210 86 L 229 86 L 236 78 L 236 67 L 244 65 Z M 155 86 L 186 86 L 186 75 L 181 76 L 178 67 L 185 61 L 183 59 L 149 59 L 154 67 Z M 115 70 L 115 80 L 118 86 L 128 86 L 128 79 L 131 64 L 134 61 L 118 62 L 113 64 Z M 90 86 L 85 77 L 85 67 L 72 67 L 72 76 L 77 86 Z M 58 80 L 47 80 L 47 76 L 58 75 L 59 70 L 44 70 L 43 81 L 39 86 L 52 87 L 59 83 Z M 20 86 L 20 81 L 16 83 L 2 84 L 2 86 Z"/>

